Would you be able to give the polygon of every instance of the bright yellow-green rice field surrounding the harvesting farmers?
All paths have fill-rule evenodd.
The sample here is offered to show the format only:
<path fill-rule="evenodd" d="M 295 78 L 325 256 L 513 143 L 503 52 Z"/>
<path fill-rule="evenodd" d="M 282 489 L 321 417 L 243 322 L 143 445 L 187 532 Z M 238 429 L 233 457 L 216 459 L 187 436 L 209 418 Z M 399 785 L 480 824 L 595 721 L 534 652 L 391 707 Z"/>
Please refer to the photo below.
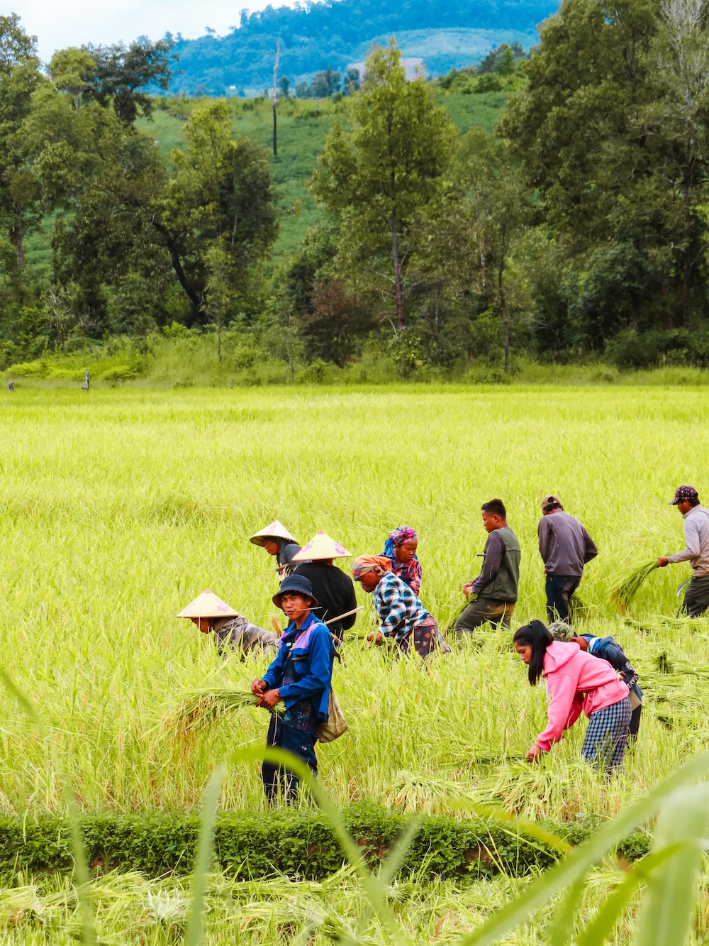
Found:
<path fill-rule="evenodd" d="M 0 693 L 0 813 L 61 812 L 61 770 L 85 811 L 196 810 L 216 762 L 233 748 L 264 741 L 263 710 L 234 712 L 188 743 L 172 738 L 161 720 L 185 692 L 218 683 L 244 689 L 264 669 L 260 659 L 224 661 L 210 639 L 175 615 L 210 587 L 269 627 L 278 613 L 270 602 L 274 563 L 248 536 L 276 517 L 303 542 L 322 528 L 355 554 L 381 552 L 391 528 L 414 526 L 422 598 L 445 627 L 462 603 L 463 580 L 479 569 L 486 538 L 480 503 L 500 497 L 523 550 L 516 626 L 544 617 L 536 529 L 542 496 L 555 493 L 599 549 L 579 589 L 589 605 L 584 626 L 620 640 L 641 670 L 641 687 L 643 675 L 653 674 L 640 739 L 618 778 L 606 782 L 579 762 L 583 725 L 530 767 L 516 757 L 544 727 L 545 693 L 528 686 L 510 635 L 482 630 L 424 669 L 367 646 L 371 598 L 358 591 L 365 611 L 335 671 L 350 729 L 319 749 L 320 779 L 339 805 L 372 799 L 436 812 L 446 810 L 447 798 L 462 797 L 501 802 L 532 818 L 607 817 L 706 745 L 706 677 L 683 670 L 706 665 L 709 621 L 671 620 L 688 566 L 653 571 L 625 619 L 608 599 L 624 569 L 683 546 L 682 519 L 667 502 L 684 482 L 700 496 L 707 491 L 709 427 L 700 389 L 1 396 L 2 666 L 42 710 L 46 734 L 38 737 L 9 692 Z M 663 659 L 677 664 L 665 688 L 656 679 Z M 265 808 L 255 764 L 227 773 L 220 805 Z M 20 901 L 40 897 L 31 892 L 35 882 L 25 881 L 22 889 L 30 892 L 17 893 Z M 7 941 L 69 941 L 74 907 L 62 883 L 45 879 L 42 897 L 55 903 L 64 932 Z M 154 889 L 139 878 L 105 883 L 133 884 L 141 902 L 149 894 L 179 917 L 177 881 Z M 356 892 L 347 893 L 354 882 L 332 883 L 347 902 L 344 922 L 355 910 Z M 509 883 L 494 882 L 479 895 L 479 908 L 503 902 Z M 8 929 L 2 924 L 10 894 L 0 897 L 0 929 Z M 252 894 L 239 887 L 224 897 L 243 905 Z M 302 895 L 320 893 L 303 888 Z M 288 896 L 273 900 L 269 893 L 265 900 L 290 902 Z M 448 920 L 440 916 L 448 916 L 458 894 L 441 886 L 425 896 L 443 905 L 425 929 L 423 920 L 410 920 L 421 930 L 417 941 L 445 939 L 450 924 L 474 923 L 475 891 L 466 894 L 470 902 L 456 901 Z M 406 900 L 412 917 L 417 897 L 424 894 Z M 235 907 L 224 909 L 222 920 Z M 239 941 L 290 941 L 268 919 L 269 909 L 253 907 L 255 919 Z M 216 913 L 211 917 L 218 926 Z M 167 941 L 138 926 L 118 941 Z M 382 941 L 370 933 L 372 942 Z M 218 929 L 213 934 L 219 941 Z M 520 932 L 509 941 L 536 942 L 535 936 Z"/>

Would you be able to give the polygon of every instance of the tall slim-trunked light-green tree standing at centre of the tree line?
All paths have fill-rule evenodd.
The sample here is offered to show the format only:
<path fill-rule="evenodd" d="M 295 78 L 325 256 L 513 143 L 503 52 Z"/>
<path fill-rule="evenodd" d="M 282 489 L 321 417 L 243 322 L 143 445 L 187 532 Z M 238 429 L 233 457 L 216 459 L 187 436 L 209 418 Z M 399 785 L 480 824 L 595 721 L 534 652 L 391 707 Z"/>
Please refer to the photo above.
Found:
<path fill-rule="evenodd" d="M 313 174 L 316 198 L 343 220 L 339 255 L 350 281 L 361 280 L 364 268 L 371 289 L 393 296 L 399 331 L 415 221 L 439 192 L 455 134 L 424 77 L 406 80 L 392 41 L 368 57 L 350 131 L 333 127 Z"/>

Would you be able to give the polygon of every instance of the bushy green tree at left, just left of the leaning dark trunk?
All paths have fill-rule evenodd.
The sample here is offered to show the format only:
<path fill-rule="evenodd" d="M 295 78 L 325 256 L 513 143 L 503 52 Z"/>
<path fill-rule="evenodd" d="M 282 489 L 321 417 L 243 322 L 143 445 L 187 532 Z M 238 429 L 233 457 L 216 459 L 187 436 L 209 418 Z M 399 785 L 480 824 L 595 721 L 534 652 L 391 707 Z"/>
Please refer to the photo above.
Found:
<path fill-rule="evenodd" d="M 166 173 L 152 137 L 127 126 L 111 108 L 77 108 L 71 90 L 43 83 L 23 127 L 34 154 L 43 209 L 54 219 L 57 284 L 77 285 L 87 325 L 102 335 L 107 288 L 141 274 L 164 295 L 169 264 L 151 224 Z"/>

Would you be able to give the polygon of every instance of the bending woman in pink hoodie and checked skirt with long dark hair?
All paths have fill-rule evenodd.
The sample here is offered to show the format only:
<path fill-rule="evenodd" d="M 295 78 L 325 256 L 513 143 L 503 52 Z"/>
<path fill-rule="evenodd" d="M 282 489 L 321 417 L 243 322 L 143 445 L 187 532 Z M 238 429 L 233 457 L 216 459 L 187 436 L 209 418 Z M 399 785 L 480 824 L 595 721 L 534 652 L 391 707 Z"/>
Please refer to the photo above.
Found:
<path fill-rule="evenodd" d="M 536 759 L 576 723 L 581 710 L 590 722 L 581 755 L 611 771 L 623 763 L 631 722 L 628 687 L 605 660 L 582 651 L 577 643 L 554 640 L 541 621 L 530 621 L 514 635 L 514 649 L 529 668 L 534 686 L 544 676 L 549 722 L 527 752 Z"/>

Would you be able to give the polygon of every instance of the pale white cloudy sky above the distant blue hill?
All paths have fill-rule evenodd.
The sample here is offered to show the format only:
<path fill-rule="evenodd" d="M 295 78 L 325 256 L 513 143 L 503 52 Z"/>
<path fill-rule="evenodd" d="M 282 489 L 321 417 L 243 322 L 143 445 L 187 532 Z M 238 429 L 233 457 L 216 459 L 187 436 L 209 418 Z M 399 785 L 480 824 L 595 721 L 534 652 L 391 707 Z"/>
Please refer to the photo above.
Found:
<path fill-rule="evenodd" d="M 287 0 L 272 0 L 274 7 Z M 251 0 L 249 9 L 264 9 L 268 0 Z M 137 36 L 158 40 L 165 32 L 185 39 L 202 36 L 205 26 L 223 35 L 239 22 L 244 0 L 0 0 L 0 13 L 14 12 L 34 34 L 43 61 L 55 49 L 82 43 L 130 43 Z"/>

